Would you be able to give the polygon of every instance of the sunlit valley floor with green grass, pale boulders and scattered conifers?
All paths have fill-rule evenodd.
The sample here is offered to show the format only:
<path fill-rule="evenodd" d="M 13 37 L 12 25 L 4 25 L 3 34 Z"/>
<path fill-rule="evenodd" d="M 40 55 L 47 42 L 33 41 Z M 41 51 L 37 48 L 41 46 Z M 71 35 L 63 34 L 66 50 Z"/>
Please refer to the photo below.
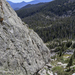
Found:
<path fill-rule="evenodd" d="M 75 75 L 75 41 L 57 39 L 46 45 L 51 50 L 51 62 L 42 70 L 43 75 Z"/>

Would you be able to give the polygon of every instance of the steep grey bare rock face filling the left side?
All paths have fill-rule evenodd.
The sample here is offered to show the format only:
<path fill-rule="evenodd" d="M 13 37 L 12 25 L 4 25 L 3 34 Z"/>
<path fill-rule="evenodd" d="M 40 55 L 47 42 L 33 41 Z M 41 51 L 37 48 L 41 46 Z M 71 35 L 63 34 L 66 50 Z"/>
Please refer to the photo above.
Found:
<path fill-rule="evenodd" d="M 0 75 L 34 75 L 50 61 L 50 51 L 5 0 L 0 2 Z"/>

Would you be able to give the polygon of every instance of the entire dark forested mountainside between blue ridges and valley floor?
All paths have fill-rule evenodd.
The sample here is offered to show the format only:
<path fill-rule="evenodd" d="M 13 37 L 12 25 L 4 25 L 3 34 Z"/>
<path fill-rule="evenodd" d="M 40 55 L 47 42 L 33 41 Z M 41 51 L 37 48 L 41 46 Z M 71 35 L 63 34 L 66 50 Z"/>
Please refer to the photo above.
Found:
<path fill-rule="evenodd" d="M 55 0 L 37 7 L 22 8 L 16 12 L 44 42 L 56 38 L 74 39 L 75 2 L 72 0 Z"/>

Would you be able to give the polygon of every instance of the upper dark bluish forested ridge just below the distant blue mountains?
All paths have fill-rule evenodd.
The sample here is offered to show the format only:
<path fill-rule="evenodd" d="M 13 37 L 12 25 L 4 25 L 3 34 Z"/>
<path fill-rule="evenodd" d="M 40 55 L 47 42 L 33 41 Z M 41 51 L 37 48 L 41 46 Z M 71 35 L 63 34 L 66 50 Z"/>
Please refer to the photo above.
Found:
<path fill-rule="evenodd" d="M 69 1 L 68 0 L 55 0 L 49 3 L 45 3 L 43 5 L 35 5 L 35 6 L 31 6 L 29 8 L 21 8 L 20 10 L 17 11 L 17 14 L 23 18 L 23 17 L 28 17 L 28 16 L 32 16 L 34 14 L 37 13 L 42 13 L 45 15 L 51 15 L 51 13 L 58 15 L 58 16 L 62 16 L 63 14 L 67 14 L 67 11 L 73 9 L 74 10 L 74 4 L 70 3 L 70 6 L 73 7 L 71 8 L 69 6 Z M 32 11 L 33 9 L 33 11 Z M 67 9 L 67 10 L 66 10 Z M 51 13 L 50 13 L 51 12 Z M 49 14 L 50 13 L 50 14 Z M 22 14 L 22 15 L 20 15 Z"/>

